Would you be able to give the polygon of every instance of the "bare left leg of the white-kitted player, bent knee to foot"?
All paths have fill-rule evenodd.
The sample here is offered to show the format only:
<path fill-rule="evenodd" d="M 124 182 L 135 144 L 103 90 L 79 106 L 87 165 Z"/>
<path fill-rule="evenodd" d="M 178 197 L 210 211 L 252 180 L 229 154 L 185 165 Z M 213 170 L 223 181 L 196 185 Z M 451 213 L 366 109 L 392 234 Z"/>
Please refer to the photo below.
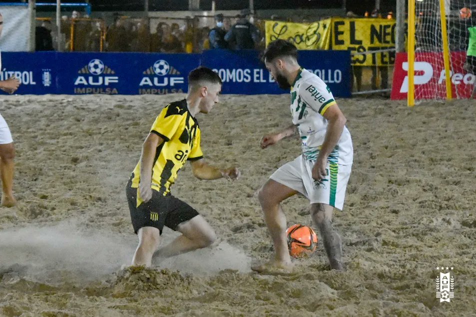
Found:
<path fill-rule="evenodd" d="M 272 179 L 261 188 L 258 198 L 264 213 L 264 220 L 273 240 L 275 257 L 269 263 L 253 266 L 251 269 L 263 272 L 271 267 L 291 269 L 293 264 L 286 241 L 286 216 L 281 202 L 298 192 Z"/>

